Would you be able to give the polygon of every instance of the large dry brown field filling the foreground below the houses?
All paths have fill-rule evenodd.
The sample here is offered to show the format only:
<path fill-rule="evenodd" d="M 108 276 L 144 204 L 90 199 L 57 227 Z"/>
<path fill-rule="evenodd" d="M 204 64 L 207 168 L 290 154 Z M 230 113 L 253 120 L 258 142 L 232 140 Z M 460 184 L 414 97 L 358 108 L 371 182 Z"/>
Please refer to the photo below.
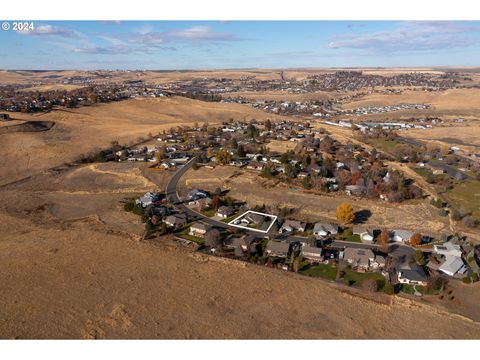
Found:
<path fill-rule="evenodd" d="M 152 189 L 143 173 L 158 186 L 170 174 L 99 164 L 0 190 L 0 338 L 480 337 L 438 306 L 138 242 L 143 226 L 119 201 Z"/>

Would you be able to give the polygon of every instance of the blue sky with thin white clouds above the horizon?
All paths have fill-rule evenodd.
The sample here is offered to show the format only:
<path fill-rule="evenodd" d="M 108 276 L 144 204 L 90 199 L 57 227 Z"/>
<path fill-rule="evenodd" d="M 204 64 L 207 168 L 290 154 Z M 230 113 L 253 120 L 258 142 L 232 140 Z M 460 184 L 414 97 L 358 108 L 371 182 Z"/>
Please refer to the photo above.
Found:
<path fill-rule="evenodd" d="M 480 21 L 8 23 L 1 69 L 480 66 Z"/>

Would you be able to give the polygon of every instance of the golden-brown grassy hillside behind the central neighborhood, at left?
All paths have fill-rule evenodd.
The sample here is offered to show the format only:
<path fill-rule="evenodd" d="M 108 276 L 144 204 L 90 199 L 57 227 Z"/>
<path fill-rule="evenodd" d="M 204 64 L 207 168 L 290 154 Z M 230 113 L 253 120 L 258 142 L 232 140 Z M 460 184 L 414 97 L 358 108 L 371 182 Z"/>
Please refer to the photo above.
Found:
<path fill-rule="evenodd" d="M 113 140 L 131 144 L 173 126 L 238 120 L 275 119 L 245 105 L 219 104 L 186 98 L 133 99 L 98 106 L 57 110 L 47 114 L 15 114 L 22 120 L 54 121 L 42 133 L 1 134 L 0 185 L 74 161 L 82 154 L 109 147 Z M 19 156 L 21 154 L 22 156 Z"/>

